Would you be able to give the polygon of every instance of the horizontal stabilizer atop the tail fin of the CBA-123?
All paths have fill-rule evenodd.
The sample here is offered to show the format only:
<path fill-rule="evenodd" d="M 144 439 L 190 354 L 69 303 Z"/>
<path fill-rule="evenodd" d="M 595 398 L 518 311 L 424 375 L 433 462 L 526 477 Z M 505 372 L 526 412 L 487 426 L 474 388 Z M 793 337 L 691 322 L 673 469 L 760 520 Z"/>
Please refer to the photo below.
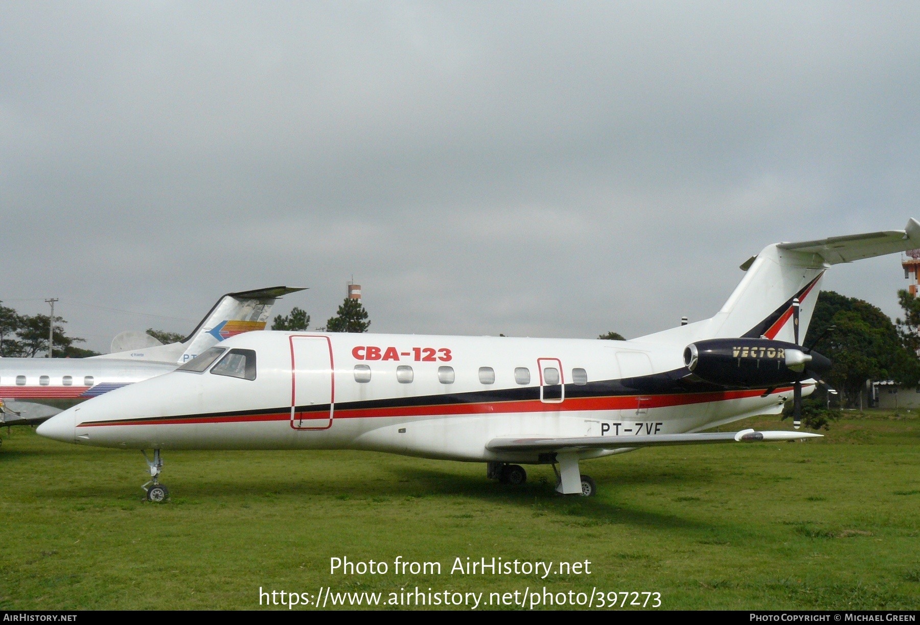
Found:
<path fill-rule="evenodd" d="M 818 254 L 828 264 L 835 265 L 839 262 L 852 262 L 853 260 L 868 259 L 907 249 L 920 248 L 920 222 L 917 222 L 916 219 L 909 219 L 907 220 L 907 226 L 904 226 L 903 230 L 883 230 L 848 237 L 830 237 L 816 241 L 800 241 L 798 243 L 779 243 L 776 247 Z"/>

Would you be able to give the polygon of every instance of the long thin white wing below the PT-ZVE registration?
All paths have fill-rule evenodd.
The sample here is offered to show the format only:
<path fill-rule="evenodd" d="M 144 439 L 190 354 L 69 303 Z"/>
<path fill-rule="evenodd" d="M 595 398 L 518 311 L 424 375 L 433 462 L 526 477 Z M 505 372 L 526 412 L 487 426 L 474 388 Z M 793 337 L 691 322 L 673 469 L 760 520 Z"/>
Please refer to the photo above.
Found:
<path fill-rule="evenodd" d="M 650 447 L 671 445 L 702 445 L 709 443 L 756 443 L 759 441 L 798 441 L 821 438 L 822 434 L 806 432 L 767 431 L 714 432 L 709 434 L 639 434 L 637 436 L 576 436 L 573 438 L 493 438 L 486 445 L 489 451 L 567 452 L 587 449 L 616 449 L 620 447 Z"/>

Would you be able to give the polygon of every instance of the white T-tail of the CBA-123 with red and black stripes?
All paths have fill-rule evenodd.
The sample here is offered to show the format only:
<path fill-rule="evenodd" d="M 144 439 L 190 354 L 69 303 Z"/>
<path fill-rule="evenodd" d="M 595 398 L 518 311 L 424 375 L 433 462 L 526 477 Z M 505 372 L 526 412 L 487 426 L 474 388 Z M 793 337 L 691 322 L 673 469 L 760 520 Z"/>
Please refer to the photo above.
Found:
<path fill-rule="evenodd" d="M 821 290 L 832 265 L 920 248 L 920 223 L 910 219 L 903 230 L 886 230 L 799 243 L 775 243 L 742 264 L 741 284 L 713 318 L 642 340 L 749 337 L 792 342 L 792 300 L 799 298 L 799 337 L 804 340 Z"/>

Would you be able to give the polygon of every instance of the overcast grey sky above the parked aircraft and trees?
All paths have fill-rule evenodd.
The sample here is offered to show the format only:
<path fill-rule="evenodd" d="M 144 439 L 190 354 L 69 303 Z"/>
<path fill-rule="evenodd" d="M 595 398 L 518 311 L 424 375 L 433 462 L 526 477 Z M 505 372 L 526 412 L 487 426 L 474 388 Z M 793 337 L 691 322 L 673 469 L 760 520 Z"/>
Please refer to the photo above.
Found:
<path fill-rule="evenodd" d="M 920 3 L 0 3 L 0 299 L 634 337 L 920 217 Z M 897 256 L 826 288 L 898 314 Z M 104 310 L 113 308 L 158 315 Z"/>

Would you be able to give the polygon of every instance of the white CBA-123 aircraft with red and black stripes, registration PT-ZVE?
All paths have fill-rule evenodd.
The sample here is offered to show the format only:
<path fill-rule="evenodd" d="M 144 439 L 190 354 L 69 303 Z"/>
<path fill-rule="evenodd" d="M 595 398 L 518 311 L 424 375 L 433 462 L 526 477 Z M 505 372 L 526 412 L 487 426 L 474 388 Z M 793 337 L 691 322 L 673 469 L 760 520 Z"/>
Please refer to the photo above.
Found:
<path fill-rule="evenodd" d="M 742 265 L 714 317 L 632 341 L 251 332 L 38 433 L 153 449 L 151 501 L 167 497 L 163 449 L 385 451 L 486 462 L 489 477 L 512 483 L 526 479 L 521 464 L 552 464 L 558 492 L 591 495 L 584 459 L 818 436 L 702 431 L 777 414 L 790 398 L 798 409 L 830 367 L 799 345 L 824 271 L 918 247 L 914 219 L 905 230 L 770 245 Z"/>

